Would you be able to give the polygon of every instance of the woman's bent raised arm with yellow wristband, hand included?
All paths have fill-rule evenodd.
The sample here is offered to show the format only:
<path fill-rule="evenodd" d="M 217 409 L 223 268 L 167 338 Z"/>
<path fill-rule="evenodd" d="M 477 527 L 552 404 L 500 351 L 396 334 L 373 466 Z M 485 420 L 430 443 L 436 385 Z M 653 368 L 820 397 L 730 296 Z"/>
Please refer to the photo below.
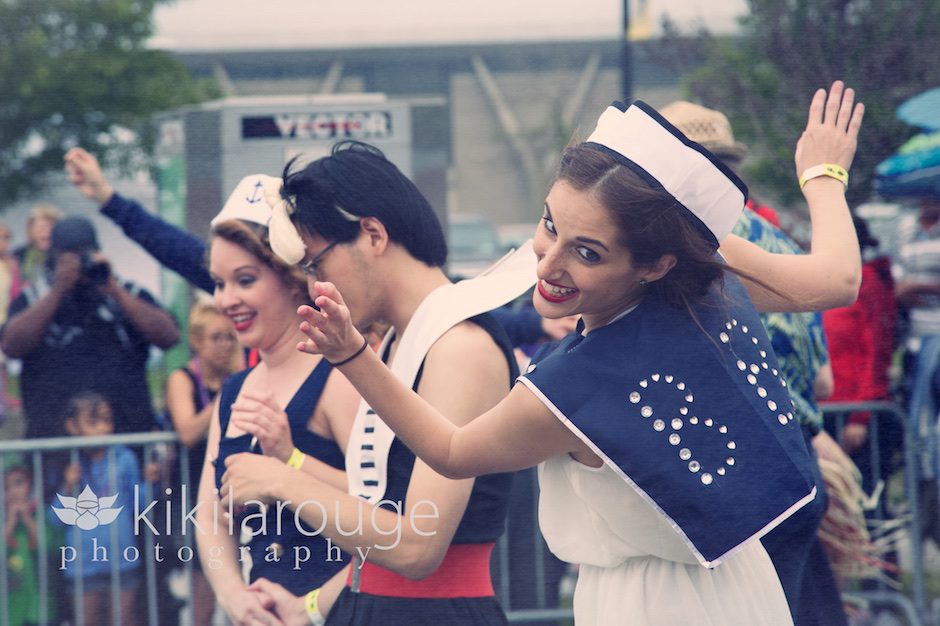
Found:
<path fill-rule="evenodd" d="M 796 172 L 824 163 L 848 171 L 865 109 L 855 92 L 841 81 L 827 95 L 813 96 L 806 130 L 796 146 Z M 813 234 L 809 254 L 773 254 L 735 235 L 721 242 L 728 263 L 765 286 L 745 280 L 754 305 L 761 311 L 816 311 L 847 306 L 858 296 L 862 277 L 858 238 L 845 200 L 845 186 L 828 176 L 806 182 Z"/>

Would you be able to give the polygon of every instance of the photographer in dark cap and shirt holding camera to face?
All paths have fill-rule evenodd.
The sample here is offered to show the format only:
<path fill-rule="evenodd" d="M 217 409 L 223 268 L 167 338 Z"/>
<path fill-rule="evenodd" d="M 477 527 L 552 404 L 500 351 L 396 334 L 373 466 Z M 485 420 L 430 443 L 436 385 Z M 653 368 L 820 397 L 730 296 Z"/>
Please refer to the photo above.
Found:
<path fill-rule="evenodd" d="M 154 427 L 150 346 L 169 348 L 179 330 L 147 291 L 114 276 L 87 219 L 55 225 L 44 271 L 10 305 L 8 320 L 0 348 L 23 361 L 27 437 L 63 434 L 65 402 L 80 391 L 108 398 L 115 432 Z"/>

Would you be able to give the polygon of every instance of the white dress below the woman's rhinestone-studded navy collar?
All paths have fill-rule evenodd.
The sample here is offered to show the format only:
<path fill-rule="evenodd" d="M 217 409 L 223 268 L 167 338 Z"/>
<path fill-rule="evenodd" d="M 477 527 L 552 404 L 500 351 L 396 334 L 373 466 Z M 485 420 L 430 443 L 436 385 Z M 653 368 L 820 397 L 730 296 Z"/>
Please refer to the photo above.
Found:
<path fill-rule="evenodd" d="M 539 466 L 539 485 L 539 522 L 549 547 L 580 566 L 577 626 L 792 626 L 759 541 L 707 569 L 606 465 L 554 457 Z"/>

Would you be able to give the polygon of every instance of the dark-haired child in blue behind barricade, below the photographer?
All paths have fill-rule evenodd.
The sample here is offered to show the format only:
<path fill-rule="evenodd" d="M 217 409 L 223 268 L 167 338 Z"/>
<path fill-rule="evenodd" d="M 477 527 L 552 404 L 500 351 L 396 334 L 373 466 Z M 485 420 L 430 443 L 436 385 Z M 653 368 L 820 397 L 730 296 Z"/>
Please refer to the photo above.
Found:
<path fill-rule="evenodd" d="M 113 434 L 111 404 L 101 394 L 90 391 L 73 396 L 65 415 L 65 430 L 76 437 Z M 142 583 L 142 556 L 133 527 L 134 489 L 142 486 L 140 466 L 125 446 L 84 448 L 78 458 L 78 463 L 66 467 L 59 501 L 53 504 L 58 518 L 72 527 L 65 533 L 57 565 L 68 582 L 70 601 L 74 601 L 81 578 L 84 623 L 109 624 L 111 572 L 116 562 L 121 624 L 133 624 L 136 590 Z"/>

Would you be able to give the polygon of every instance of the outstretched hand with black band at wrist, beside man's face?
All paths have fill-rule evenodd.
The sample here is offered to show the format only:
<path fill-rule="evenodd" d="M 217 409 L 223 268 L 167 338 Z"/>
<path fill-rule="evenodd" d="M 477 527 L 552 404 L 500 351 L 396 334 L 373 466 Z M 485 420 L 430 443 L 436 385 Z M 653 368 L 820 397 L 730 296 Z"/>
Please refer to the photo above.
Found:
<path fill-rule="evenodd" d="M 333 283 L 314 284 L 318 294 L 312 306 L 302 305 L 297 315 L 303 318 L 300 331 L 307 340 L 297 349 L 308 354 L 322 354 L 331 363 L 340 363 L 356 354 L 365 341 L 353 326 L 343 296 Z"/>

